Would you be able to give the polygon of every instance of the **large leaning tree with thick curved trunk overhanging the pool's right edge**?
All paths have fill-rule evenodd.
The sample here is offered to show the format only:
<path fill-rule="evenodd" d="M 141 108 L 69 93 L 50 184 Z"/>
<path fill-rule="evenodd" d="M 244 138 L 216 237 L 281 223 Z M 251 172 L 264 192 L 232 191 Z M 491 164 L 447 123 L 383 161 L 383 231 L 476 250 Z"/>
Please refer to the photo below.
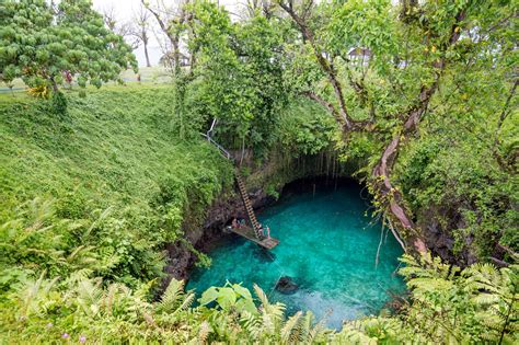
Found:
<path fill-rule="evenodd" d="M 291 50 L 295 90 L 334 116 L 345 147 L 359 135 L 374 140 L 380 153 L 368 174 L 376 205 L 414 249 L 425 251 L 416 218 L 393 183 L 399 153 L 419 136 L 431 104 L 452 101 L 440 94 L 441 88 L 455 97 L 460 85 L 474 82 L 459 76 L 485 70 L 501 84 L 517 83 L 509 32 L 516 5 L 470 0 L 278 3 L 299 33 Z M 484 80 L 480 76 L 477 82 Z M 509 89 L 512 94 L 515 87 Z M 499 103 L 507 107 L 509 97 L 506 93 Z"/>

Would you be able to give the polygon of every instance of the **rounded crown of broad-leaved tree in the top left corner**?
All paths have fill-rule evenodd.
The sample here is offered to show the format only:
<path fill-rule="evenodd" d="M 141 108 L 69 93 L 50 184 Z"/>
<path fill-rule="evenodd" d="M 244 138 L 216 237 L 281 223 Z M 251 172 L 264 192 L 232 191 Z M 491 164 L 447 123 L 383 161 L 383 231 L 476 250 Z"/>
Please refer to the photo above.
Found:
<path fill-rule="evenodd" d="M 137 69 L 131 48 L 104 26 L 90 0 L 8 0 L 0 4 L 0 79 L 22 78 L 28 87 L 51 88 L 71 76 L 78 84 L 118 80 Z"/>

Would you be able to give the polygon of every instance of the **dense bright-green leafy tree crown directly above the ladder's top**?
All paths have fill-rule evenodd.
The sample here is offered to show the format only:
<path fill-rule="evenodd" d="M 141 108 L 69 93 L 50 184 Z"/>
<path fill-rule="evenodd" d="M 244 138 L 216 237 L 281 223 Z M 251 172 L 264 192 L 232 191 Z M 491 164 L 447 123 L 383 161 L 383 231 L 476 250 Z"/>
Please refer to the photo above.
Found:
<path fill-rule="evenodd" d="M 226 147 L 246 140 L 261 156 L 275 140 L 272 133 L 287 100 L 276 23 L 262 15 L 232 23 L 222 8 L 206 1 L 195 2 L 193 11 L 189 44 L 200 80 L 192 87 L 188 106 L 220 120 L 217 136 Z"/>

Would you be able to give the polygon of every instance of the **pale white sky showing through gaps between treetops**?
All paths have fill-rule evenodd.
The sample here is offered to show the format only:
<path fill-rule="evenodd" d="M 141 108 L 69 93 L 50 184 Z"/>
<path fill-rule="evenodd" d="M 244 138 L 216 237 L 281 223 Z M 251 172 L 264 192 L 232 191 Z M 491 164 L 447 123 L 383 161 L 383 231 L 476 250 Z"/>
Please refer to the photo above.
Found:
<path fill-rule="evenodd" d="M 175 0 L 163 1 L 168 3 L 169 1 L 174 2 Z M 246 0 L 219 0 L 220 4 L 224 5 L 230 12 L 239 10 L 240 4 L 244 3 L 244 1 Z M 150 2 L 153 3 L 152 0 Z M 140 0 L 93 0 L 93 3 L 94 9 L 101 13 L 104 9 L 113 8 L 117 15 L 117 20 L 126 22 L 131 20 L 134 11 L 137 11 L 139 9 Z M 153 34 L 151 34 L 148 51 L 150 55 L 151 65 L 157 65 L 159 62 L 160 57 L 162 56 L 162 50 Z M 137 56 L 139 66 L 146 66 L 145 50 L 142 49 L 142 47 L 139 47 L 134 53 Z"/>

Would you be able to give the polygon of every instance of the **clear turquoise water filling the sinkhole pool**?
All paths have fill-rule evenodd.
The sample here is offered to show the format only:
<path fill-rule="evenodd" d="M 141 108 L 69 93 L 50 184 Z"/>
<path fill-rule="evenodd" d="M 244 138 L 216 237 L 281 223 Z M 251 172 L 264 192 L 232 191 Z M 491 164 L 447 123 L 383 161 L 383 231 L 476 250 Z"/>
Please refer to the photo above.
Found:
<path fill-rule="evenodd" d="M 318 186 L 315 195 L 286 195 L 258 215 L 270 235 L 280 240 L 278 246 L 265 252 L 238 235 L 226 237 L 209 254 L 211 267 L 195 269 L 187 288 L 201 292 L 227 280 L 249 288 L 256 283 L 270 301 L 287 304 L 288 313 L 311 310 L 336 329 L 342 320 L 377 314 L 390 299 L 388 291 L 404 291 L 394 274 L 402 249 L 391 233 L 384 235 L 376 267 L 381 226 L 370 223 L 367 208 L 355 183 L 336 189 Z M 292 277 L 298 291 L 276 291 L 280 276 Z"/>

